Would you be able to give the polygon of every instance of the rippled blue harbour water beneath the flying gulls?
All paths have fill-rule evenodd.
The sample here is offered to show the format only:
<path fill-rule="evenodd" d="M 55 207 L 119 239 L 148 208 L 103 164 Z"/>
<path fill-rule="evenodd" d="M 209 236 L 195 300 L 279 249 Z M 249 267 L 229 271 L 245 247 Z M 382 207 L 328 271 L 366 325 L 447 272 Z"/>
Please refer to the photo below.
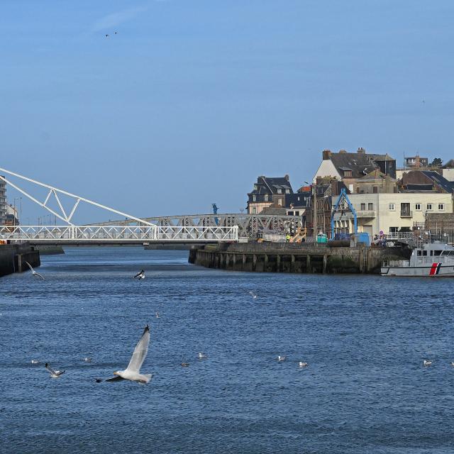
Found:
<path fill-rule="evenodd" d="M 1 453 L 454 450 L 452 279 L 242 274 L 141 248 L 42 262 L 45 281 L 0 279 Z M 96 383 L 145 323 L 152 381 Z"/>

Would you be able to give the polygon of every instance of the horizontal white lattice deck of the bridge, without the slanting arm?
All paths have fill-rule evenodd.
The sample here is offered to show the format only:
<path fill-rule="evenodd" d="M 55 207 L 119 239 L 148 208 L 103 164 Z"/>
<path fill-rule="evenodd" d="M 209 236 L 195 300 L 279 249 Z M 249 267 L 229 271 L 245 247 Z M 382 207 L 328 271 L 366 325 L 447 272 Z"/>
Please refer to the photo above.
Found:
<path fill-rule="evenodd" d="M 238 241 L 238 226 L 0 226 L 0 239 L 55 243 Z"/>

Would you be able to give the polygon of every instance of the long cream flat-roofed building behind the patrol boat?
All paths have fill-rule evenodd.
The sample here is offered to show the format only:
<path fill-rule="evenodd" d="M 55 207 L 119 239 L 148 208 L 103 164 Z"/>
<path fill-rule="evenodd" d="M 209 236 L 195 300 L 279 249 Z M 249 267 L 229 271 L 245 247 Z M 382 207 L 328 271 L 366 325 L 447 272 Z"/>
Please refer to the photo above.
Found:
<path fill-rule="evenodd" d="M 439 192 L 398 192 L 348 194 L 358 219 L 358 232 L 370 236 L 423 225 L 426 213 L 453 213 L 452 194 Z M 338 196 L 333 196 L 335 206 Z M 353 233 L 353 216 L 345 211 L 334 216 L 336 233 Z"/>

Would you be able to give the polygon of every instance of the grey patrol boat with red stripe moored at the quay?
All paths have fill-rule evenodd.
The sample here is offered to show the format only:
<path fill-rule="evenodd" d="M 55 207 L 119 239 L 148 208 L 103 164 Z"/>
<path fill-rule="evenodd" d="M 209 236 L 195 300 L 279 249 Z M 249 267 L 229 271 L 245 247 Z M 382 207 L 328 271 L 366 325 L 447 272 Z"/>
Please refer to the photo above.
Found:
<path fill-rule="evenodd" d="M 454 248 L 440 241 L 415 248 L 410 260 L 385 260 L 382 276 L 454 277 Z"/>

